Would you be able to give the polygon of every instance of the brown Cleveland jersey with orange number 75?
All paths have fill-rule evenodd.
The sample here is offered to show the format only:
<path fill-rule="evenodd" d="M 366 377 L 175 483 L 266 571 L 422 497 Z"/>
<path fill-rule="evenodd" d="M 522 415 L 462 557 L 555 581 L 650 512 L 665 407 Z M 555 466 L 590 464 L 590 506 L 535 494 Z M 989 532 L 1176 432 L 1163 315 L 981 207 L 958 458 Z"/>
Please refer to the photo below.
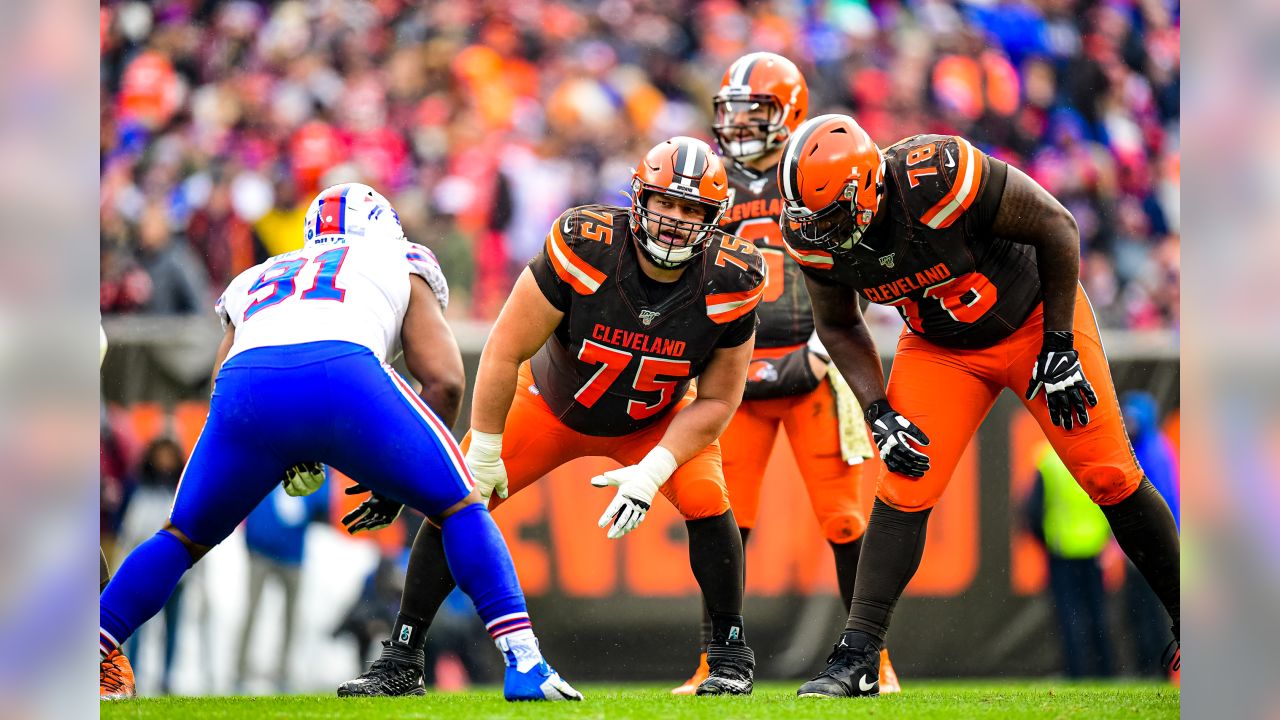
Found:
<path fill-rule="evenodd" d="M 655 283 L 640 268 L 627 209 L 611 205 L 567 210 L 529 266 L 564 313 L 532 357 L 538 391 L 589 436 L 662 420 L 717 348 L 751 338 L 764 295 L 760 254 L 723 234 L 678 281 Z"/>

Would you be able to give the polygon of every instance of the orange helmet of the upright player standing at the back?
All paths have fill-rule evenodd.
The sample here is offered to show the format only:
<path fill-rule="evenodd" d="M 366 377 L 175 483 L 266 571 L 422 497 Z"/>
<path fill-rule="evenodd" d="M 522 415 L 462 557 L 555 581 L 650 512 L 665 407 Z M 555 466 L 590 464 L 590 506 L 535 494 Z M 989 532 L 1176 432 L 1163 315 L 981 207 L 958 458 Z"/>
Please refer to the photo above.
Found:
<path fill-rule="evenodd" d="M 721 151 L 736 160 L 750 160 L 782 145 L 809 114 L 809 86 L 791 60 L 773 53 L 751 53 L 724 72 L 712 106 L 712 131 Z M 768 109 L 767 118 L 744 118 L 762 108 Z M 746 133 L 750 136 L 744 137 Z"/>

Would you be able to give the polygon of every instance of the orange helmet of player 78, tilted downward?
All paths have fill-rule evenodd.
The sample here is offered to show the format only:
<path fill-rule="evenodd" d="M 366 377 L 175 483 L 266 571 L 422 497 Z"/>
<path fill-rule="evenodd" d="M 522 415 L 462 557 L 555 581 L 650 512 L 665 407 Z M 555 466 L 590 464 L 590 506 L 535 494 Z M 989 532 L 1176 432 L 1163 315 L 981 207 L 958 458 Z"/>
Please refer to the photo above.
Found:
<path fill-rule="evenodd" d="M 782 214 L 815 247 L 858 245 L 884 195 L 884 154 L 849 115 L 796 128 L 778 163 Z"/>

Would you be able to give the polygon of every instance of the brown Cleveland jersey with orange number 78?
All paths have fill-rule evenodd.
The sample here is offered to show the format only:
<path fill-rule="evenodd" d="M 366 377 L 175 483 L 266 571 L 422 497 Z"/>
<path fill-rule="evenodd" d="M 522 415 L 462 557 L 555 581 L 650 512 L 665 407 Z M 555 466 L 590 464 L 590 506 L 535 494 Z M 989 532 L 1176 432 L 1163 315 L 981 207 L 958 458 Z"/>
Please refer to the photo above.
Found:
<path fill-rule="evenodd" d="M 992 234 L 1007 167 L 963 137 L 918 135 L 884 150 L 882 217 L 836 251 L 785 232 L 787 250 L 823 282 L 890 305 L 943 347 L 991 347 L 1041 302 L 1036 250 Z"/>

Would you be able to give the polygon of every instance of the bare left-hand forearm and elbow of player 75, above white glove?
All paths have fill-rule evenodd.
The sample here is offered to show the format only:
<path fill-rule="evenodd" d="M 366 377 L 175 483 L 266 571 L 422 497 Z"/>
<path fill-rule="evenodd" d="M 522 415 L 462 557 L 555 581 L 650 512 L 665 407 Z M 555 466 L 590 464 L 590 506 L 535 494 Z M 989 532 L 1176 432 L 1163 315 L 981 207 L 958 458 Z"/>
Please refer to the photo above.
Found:
<path fill-rule="evenodd" d="M 493 324 L 480 354 L 476 391 L 471 400 L 471 429 L 502 433 L 516 396 L 520 364 L 538 352 L 564 318 L 525 268 Z"/>

